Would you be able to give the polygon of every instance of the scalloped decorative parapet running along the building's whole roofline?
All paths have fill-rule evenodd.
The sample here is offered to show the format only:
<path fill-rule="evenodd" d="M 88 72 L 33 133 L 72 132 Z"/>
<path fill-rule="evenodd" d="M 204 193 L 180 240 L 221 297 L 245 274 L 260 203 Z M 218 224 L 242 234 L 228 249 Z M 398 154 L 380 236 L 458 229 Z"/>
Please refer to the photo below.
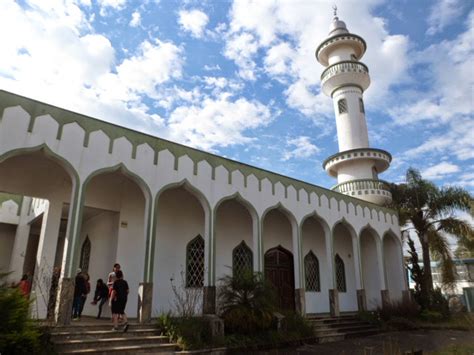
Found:
<path fill-rule="evenodd" d="M 232 179 L 234 176 L 236 176 L 235 172 L 239 172 L 243 176 L 244 186 L 247 186 L 247 182 L 250 181 L 250 179 L 256 179 L 258 181 L 259 191 L 262 190 L 263 185 L 268 183 L 271 185 L 272 193 L 275 194 L 275 192 L 280 189 L 279 186 L 281 185 L 281 188 L 284 190 L 285 198 L 288 198 L 290 194 L 293 195 L 293 192 L 296 192 L 294 195 L 296 196 L 295 198 L 297 201 L 300 201 L 302 198 L 301 196 L 306 196 L 303 198 L 304 200 L 307 198 L 309 203 L 310 196 L 315 194 L 320 204 L 321 197 L 325 197 L 328 201 L 335 200 L 337 206 L 339 206 L 341 201 L 344 201 L 346 206 L 352 204 L 356 210 L 357 207 L 360 207 L 362 210 L 368 208 L 369 210 L 376 210 L 378 212 L 383 212 L 384 214 L 389 214 L 392 217 L 396 217 L 395 211 L 391 209 L 381 207 L 370 202 L 362 201 L 357 198 L 352 198 L 350 196 L 346 196 L 344 194 L 331 191 L 317 185 L 293 179 L 264 169 L 256 168 L 245 163 L 203 152 L 182 144 L 133 131 L 131 129 L 120 127 L 112 123 L 98 120 L 96 118 L 81 115 L 30 98 L 0 90 L 0 113 L 3 113 L 6 108 L 18 106 L 30 116 L 30 121 L 27 128 L 28 132 L 34 131 L 35 122 L 38 117 L 50 116 L 58 124 L 58 126 L 55 128 L 57 130 L 55 132 L 56 140 L 61 140 L 63 138 L 63 132 L 65 132 L 67 129 L 66 127 L 70 126 L 70 124 L 76 124 L 84 131 L 84 135 L 81 135 L 80 137 L 77 136 L 77 140 L 79 140 L 84 147 L 88 147 L 89 137 L 91 134 L 99 131 L 110 140 L 108 147 L 109 154 L 113 154 L 115 149 L 118 149 L 118 140 L 128 141 L 130 143 L 131 149 L 127 150 L 127 154 L 130 154 L 130 156 L 124 156 L 123 159 L 131 158 L 138 160 L 141 154 L 139 147 L 147 145 L 152 151 L 151 155 L 153 156 L 153 159 L 147 159 L 147 161 L 149 161 L 149 164 L 153 164 L 155 166 L 158 164 L 158 158 L 160 154 L 167 151 L 174 157 L 175 170 L 178 170 L 179 161 L 182 158 L 187 157 L 194 165 L 194 175 L 197 175 L 198 173 L 199 164 L 206 162 L 212 169 L 211 178 L 213 180 L 216 178 L 216 174 L 219 169 L 224 168 L 228 173 L 229 184 L 232 184 Z M 3 114 L 0 116 L 0 127 L 2 117 Z"/>

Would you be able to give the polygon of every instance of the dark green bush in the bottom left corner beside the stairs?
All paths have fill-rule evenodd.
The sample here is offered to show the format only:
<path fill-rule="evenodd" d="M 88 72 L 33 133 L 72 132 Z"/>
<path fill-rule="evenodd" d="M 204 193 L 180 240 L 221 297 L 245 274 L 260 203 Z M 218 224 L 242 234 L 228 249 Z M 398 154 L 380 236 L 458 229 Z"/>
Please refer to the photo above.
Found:
<path fill-rule="evenodd" d="M 0 275 L 0 281 L 6 274 Z M 29 318 L 30 301 L 19 289 L 0 285 L 0 353 L 38 354 L 41 332 Z"/>

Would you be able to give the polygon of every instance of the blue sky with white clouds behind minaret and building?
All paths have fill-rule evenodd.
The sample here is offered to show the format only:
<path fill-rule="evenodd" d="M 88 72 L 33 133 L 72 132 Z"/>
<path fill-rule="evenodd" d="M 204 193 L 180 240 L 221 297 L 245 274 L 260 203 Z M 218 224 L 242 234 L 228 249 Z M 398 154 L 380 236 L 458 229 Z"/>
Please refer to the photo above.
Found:
<path fill-rule="evenodd" d="M 320 186 L 333 1 L 0 2 L 0 88 Z M 474 2 L 337 1 L 368 44 L 372 147 L 474 191 Z"/>

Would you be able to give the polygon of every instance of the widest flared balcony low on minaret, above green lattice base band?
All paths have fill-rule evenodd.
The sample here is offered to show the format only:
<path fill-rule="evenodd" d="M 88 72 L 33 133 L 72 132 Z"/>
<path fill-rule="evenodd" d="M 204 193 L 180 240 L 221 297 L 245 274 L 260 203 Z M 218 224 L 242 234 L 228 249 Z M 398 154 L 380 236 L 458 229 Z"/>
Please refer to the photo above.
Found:
<path fill-rule="evenodd" d="M 323 168 L 329 175 L 337 177 L 337 171 L 342 165 L 354 161 L 371 160 L 377 173 L 380 174 L 388 169 L 392 156 L 389 152 L 376 148 L 357 148 L 345 150 L 331 155 L 323 162 Z"/>

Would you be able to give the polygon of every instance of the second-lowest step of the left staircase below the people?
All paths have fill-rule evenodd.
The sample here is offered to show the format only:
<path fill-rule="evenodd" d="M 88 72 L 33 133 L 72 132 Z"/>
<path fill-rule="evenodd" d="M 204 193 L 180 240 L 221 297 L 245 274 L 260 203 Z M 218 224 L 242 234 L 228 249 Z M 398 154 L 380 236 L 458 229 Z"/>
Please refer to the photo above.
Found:
<path fill-rule="evenodd" d="M 169 338 L 161 335 L 155 336 L 126 336 L 123 337 L 100 338 L 100 339 L 74 339 L 54 341 L 54 346 L 59 351 L 80 350 L 80 349 L 98 349 L 102 347 L 121 347 L 121 346 L 143 346 L 169 343 Z"/>

